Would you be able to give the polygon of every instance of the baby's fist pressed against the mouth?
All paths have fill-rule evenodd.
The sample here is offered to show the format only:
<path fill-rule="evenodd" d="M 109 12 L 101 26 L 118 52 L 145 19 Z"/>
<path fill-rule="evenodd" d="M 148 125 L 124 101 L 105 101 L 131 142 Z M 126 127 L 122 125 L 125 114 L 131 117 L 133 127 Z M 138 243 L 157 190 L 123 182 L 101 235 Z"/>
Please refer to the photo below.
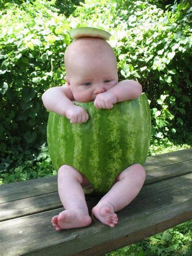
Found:
<path fill-rule="evenodd" d="M 98 94 L 94 100 L 97 109 L 112 109 L 113 104 L 117 102 L 117 96 L 112 92 L 102 92 Z"/>

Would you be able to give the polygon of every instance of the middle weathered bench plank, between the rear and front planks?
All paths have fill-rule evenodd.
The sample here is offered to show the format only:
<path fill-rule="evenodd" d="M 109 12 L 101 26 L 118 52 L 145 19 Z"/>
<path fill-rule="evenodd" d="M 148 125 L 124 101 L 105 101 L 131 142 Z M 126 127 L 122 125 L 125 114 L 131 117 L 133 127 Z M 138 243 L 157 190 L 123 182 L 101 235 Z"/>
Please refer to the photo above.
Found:
<path fill-rule="evenodd" d="M 144 186 L 192 172 L 192 160 L 161 167 L 147 172 Z M 90 196 L 86 198 L 91 200 Z M 58 192 L 31 196 L 0 204 L 0 221 L 18 218 L 62 207 Z"/>

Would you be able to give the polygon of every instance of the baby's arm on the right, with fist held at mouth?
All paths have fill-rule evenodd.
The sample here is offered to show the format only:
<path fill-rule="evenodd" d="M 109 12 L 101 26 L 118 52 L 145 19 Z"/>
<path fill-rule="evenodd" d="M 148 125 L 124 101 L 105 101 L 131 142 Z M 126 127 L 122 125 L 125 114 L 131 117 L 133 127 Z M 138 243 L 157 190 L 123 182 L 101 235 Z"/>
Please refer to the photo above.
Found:
<path fill-rule="evenodd" d="M 140 83 L 133 80 L 124 80 L 111 87 L 107 92 L 98 94 L 94 105 L 98 109 L 111 109 L 116 102 L 134 100 L 139 98 L 141 93 Z"/>

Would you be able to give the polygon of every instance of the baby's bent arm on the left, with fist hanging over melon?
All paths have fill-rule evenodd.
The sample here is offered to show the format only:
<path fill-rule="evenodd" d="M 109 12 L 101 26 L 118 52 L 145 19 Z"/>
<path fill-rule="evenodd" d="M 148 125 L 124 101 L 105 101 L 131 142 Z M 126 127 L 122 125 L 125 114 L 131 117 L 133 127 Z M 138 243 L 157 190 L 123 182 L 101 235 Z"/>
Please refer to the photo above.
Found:
<path fill-rule="evenodd" d="M 73 94 L 67 85 L 51 87 L 42 95 L 43 105 L 51 112 L 66 116 L 72 124 L 87 122 L 88 114 L 82 107 L 76 106 Z"/>

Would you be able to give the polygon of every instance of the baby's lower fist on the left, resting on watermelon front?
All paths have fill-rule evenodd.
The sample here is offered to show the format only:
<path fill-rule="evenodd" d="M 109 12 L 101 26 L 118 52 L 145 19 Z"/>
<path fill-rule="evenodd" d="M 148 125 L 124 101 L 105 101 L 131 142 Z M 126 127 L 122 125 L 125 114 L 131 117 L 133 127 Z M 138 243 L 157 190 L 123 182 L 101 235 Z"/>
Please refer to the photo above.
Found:
<path fill-rule="evenodd" d="M 89 116 L 83 107 L 70 106 L 65 111 L 65 116 L 70 120 L 71 124 L 81 124 L 87 122 Z"/>

